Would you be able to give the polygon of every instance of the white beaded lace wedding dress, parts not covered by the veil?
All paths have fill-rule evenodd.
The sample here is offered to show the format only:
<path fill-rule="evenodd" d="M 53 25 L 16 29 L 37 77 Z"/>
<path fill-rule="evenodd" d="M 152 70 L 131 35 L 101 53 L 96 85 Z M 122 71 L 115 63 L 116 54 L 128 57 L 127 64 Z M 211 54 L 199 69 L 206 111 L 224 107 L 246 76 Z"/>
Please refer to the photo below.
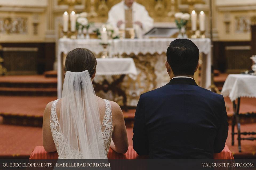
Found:
<path fill-rule="evenodd" d="M 56 105 L 59 99 L 55 100 L 51 107 L 51 117 L 50 117 L 50 128 L 51 134 L 53 136 L 53 141 L 55 143 L 56 149 L 58 151 L 58 159 L 83 159 L 81 152 L 72 148 L 69 143 L 64 142 L 64 137 L 62 130 L 59 126 L 59 120 L 56 113 Z M 105 115 L 101 124 L 102 137 L 104 141 L 106 154 L 109 151 L 109 146 L 111 143 L 111 137 L 113 133 L 113 122 L 112 122 L 112 111 L 111 105 L 108 100 L 104 99 L 106 104 Z M 69 153 L 61 152 L 62 150 L 69 150 Z"/>

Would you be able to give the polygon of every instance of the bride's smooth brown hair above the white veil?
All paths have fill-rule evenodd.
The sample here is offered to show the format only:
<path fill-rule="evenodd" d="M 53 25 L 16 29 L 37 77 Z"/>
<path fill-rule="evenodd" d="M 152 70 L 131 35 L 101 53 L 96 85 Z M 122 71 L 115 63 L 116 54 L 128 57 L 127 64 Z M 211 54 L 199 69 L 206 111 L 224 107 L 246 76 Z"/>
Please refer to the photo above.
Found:
<path fill-rule="evenodd" d="M 92 77 L 96 70 L 97 60 L 86 48 L 76 48 L 67 54 L 65 71 L 82 72 L 88 70 Z"/>

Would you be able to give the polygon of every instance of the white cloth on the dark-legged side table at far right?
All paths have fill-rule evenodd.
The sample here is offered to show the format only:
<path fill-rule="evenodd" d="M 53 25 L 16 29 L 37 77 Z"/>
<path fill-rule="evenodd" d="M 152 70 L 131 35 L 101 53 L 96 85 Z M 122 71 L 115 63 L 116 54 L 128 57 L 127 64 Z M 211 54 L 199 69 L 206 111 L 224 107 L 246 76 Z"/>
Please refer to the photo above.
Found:
<path fill-rule="evenodd" d="M 231 101 L 238 97 L 256 97 L 256 76 L 246 74 L 229 74 L 221 94 L 229 96 Z"/>

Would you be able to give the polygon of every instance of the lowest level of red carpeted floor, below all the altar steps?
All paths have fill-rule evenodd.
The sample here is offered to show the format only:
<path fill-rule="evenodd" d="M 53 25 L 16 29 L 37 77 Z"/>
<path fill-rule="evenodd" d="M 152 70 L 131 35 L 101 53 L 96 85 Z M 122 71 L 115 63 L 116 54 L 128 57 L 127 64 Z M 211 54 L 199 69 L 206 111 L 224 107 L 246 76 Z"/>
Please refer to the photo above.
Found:
<path fill-rule="evenodd" d="M 230 127 L 231 128 L 231 127 Z M 256 124 L 241 126 L 242 131 L 256 130 Z M 132 128 L 127 128 L 129 145 L 133 145 Z M 3 158 L 24 158 L 28 159 L 35 146 L 42 146 L 42 128 L 0 125 L 0 159 Z M 235 136 L 235 139 L 237 137 Z M 226 145 L 234 154 L 235 159 L 256 159 L 255 141 L 242 141 L 242 153 L 238 152 L 237 140 L 231 146 L 231 130 Z"/>

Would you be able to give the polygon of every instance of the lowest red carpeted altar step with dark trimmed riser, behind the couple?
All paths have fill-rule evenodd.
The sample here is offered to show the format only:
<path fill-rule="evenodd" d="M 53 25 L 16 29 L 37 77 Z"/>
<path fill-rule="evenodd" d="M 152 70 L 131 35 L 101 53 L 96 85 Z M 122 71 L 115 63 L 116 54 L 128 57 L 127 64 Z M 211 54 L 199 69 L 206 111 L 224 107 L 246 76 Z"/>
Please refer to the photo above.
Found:
<path fill-rule="evenodd" d="M 42 127 L 43 111 L 55 96 L 0 96 L 0 116 L 3 124 Z M 233 117 L 232 102 L 225 97 L 228 120 Z M 256 123 L 256 98 L 241 98 L 241 124 Z M 133 127 L 135 109 L 123 111 L 126 127 Z M 250 116 L 254 115 L 254 116 Z M 0 120 L 1 121 L 1 120 Z"/>

